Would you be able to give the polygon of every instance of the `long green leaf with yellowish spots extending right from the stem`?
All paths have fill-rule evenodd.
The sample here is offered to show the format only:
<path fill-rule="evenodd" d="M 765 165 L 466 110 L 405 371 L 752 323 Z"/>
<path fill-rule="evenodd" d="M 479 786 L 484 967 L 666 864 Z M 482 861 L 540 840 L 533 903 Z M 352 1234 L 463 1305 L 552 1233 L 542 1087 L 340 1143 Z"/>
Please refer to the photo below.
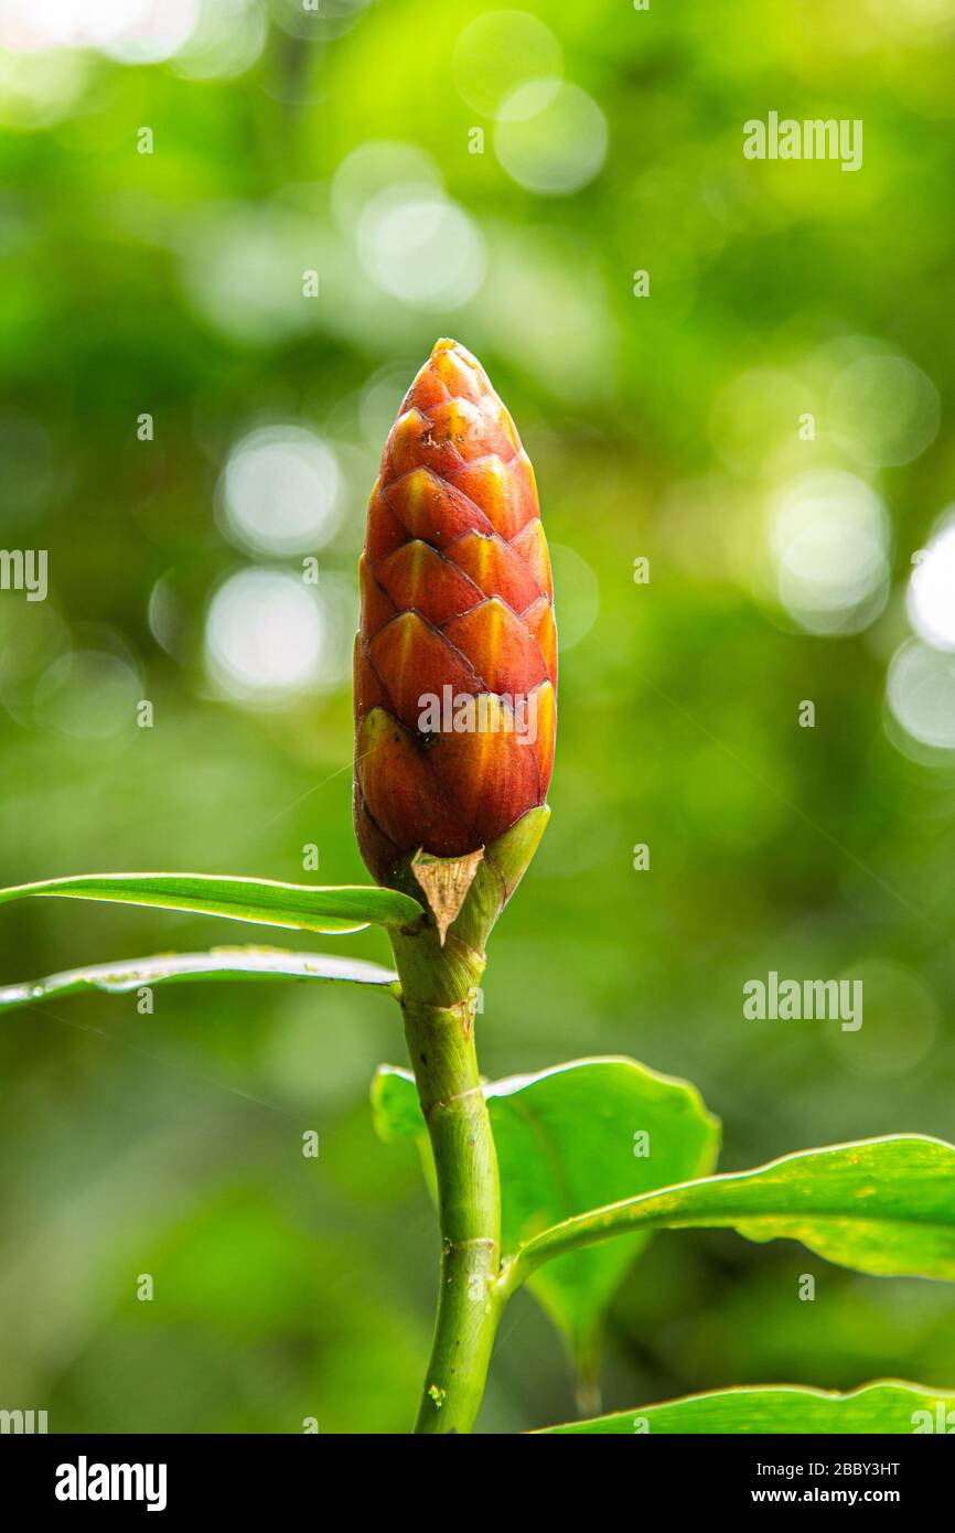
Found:
<path fill-rule="evenodd" d="M 529 1240 L 507 1286 L 567 1251 L 661 1226 L 734 1228 L 748 1240 L 802 1240 L 858 1272 L 955 1279 L 955 1147 L 863 1139 L 598 1208 Z"/>

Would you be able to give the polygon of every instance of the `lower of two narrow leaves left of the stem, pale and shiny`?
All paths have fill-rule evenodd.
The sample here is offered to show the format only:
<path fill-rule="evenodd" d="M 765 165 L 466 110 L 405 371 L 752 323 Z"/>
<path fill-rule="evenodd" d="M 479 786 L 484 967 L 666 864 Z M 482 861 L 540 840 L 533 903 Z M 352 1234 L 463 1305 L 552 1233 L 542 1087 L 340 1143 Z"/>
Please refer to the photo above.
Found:
<path fill-rule="evenodd" d="M 327 980 L 389 986 L 397 981 L 397 975 L 360 958 L 293 954 L 281 947 L 213 947 L 207 954 L 158 954 L 155 958 L 87 964 L 51 973 L 46 980 L 0 986 L 0 1012 L 75 995 L 78 990 L 124 995 L 143 984 L 181 984 L 190 980 Z"/>

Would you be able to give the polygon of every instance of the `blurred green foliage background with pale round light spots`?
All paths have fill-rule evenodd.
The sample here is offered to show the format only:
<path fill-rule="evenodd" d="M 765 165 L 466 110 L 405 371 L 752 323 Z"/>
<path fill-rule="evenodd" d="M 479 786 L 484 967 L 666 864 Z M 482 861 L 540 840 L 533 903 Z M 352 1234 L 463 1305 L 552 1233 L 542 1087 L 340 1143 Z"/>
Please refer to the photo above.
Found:
<path fill-rule="evenodd" d="M 311 845 L 363 881 L 363 504 L 452 334 L 535 461 L 563 639 L 483 1069 L 687 1076 L 724 1170 L 955 1137 L 955 0 L 5 0 L 0 37 L 2 541 L 49 550 L 48 601 L 0 593 L 2 881 L 300 880 Z M 747 161 L 771 110 L 861 120 L 863 167 Z M 0 977 L 254 937 L 28 903 Z M 863 978 L 863 1029 L 745 1021 L 770 969 Z M 372 1136 L 380 1059 L 385 1000 L 302 986 L 6 1016 L 0 1404 L 406 1430 L 437 1240 L 414 1153 Z M 604 1403 L 884 1374 L 955 1386 L 943 1285 L 671 1234 L 615 1305 Z M 520 1295 L 481 1430 L 572 1412 Z"/>

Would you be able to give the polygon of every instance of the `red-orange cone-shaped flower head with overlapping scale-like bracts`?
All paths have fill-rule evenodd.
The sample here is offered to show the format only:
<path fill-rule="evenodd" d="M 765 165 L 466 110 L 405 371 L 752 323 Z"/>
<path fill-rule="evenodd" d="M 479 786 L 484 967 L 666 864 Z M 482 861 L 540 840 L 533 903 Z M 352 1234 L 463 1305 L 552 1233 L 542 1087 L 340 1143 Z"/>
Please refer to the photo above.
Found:
<path fill-rule="evenodd" d="M 438 340 L 382 454 L 359 566 L 356 832 L 380 883 L 544 803 L 556 632 L 537 484 L 464 346 Z"/>

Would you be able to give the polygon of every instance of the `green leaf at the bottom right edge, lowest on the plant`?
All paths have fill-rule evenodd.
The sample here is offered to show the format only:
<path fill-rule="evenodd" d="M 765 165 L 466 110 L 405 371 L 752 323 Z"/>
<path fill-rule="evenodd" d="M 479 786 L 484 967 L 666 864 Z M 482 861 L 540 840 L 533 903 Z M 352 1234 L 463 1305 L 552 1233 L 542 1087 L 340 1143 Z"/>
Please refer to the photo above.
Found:
<path fill-rule="evenodd" d="M 947 1423 L 947 1426 L 946 1426 Z M 955 1427 L 955 1393 L 884 1380 L 861 1384 L 848 1395 L 825 1389 L 776 1384 L 771 1389 L 720 1389 L 711 1395 L 688 1395 L 662 1406 L 621 1410 L 596 1421 L 570 1421 L 544 1427 L 533 1436 L 564 1432 L 605 1435 L 751 1433 L 751 1432 L 894 1432 L 915 1435 L 950 1432 Z"/>

